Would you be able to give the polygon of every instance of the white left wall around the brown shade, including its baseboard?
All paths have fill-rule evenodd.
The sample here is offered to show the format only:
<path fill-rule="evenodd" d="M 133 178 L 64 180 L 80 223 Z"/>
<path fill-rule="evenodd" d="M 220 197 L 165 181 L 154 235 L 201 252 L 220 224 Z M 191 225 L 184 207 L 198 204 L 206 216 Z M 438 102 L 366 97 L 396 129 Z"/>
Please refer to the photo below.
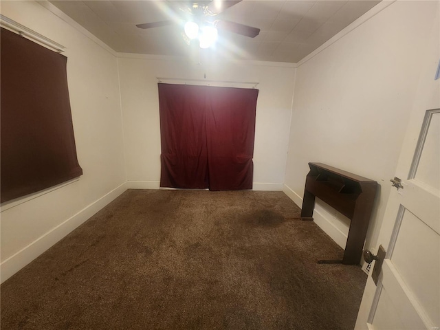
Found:
<path fill-rule="evenodd" d="M 66 47 L 78 161 L 84 175 L 58 189 L 1 206 L 1 281 L 124 191 L 118 63 L 33 1 L 2 1 L 1 14 Z"/>

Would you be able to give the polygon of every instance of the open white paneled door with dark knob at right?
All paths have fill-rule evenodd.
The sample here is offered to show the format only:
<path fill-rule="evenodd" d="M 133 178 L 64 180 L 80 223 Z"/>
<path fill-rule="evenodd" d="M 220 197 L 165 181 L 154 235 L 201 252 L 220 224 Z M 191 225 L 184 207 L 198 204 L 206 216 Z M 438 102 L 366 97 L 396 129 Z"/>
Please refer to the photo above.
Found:
<path fill-rule="evenodd" d="M 430 61 L 415 63 L 421 75 L 395 175 L 403 188 L 391 191 L 378 239 L 377 249 L 382 245 L 386 257 L 377 286 L 371 278 L 377 261 L 371 264 L 355 329 L 440 327 L 438 2 L 436 10 L 427 39 Z"/>

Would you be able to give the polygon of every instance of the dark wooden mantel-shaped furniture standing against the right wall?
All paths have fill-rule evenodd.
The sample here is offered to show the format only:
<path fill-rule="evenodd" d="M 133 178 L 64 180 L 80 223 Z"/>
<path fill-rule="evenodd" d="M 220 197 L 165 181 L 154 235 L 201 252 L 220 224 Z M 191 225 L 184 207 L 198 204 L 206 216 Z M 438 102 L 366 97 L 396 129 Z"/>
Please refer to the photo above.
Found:
<path fill-rule="evenodd" d="M 303 220 L 313 220 L 315 197 L 351 219 L 342 261 L 322 260 L 318 263 L 359 264 L 373 211 L 377 182 L 322 163 L 309 163 L 309 167 L 301 210 Z"/>

